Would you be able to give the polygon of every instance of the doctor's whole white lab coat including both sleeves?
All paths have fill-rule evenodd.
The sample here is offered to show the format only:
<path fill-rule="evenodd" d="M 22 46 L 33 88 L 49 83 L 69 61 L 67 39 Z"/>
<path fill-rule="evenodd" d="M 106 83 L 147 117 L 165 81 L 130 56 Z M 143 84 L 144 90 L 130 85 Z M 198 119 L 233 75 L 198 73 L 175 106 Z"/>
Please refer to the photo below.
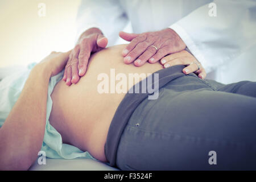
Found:
<path fill-rule="evenodd" d="M 209 15 L 211 2 L 216 16 Z M 175 30 L 208 78 L 225 84 L 256 81 L 255 0 L 82 0 L 77 36 L 98 27 L 112 46 L 129 21 L 134 33 Z"/>

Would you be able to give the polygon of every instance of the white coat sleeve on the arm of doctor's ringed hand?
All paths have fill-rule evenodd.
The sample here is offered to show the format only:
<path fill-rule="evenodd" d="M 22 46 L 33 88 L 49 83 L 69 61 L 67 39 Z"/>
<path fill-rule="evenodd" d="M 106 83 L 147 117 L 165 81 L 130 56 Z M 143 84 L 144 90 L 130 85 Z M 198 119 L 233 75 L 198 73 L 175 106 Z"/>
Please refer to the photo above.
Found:
<path fill-rule="evenodd" d="M 213 14 L 214 5 L 216 16 Z M 205 70 L 210 72 L 256 43 L 256 1 L 213 1 L 170 28 L 177 32 Z"/>

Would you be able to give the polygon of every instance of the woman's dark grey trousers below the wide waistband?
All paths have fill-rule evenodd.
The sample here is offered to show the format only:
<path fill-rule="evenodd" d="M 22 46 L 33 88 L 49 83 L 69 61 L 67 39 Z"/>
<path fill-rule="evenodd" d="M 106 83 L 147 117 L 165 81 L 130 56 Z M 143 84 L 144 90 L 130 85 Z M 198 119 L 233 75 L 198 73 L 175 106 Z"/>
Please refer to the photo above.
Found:
<path fill-rule="evenodd" d="M 133 111 L 115 160 L 122 170 L 255 170 L 256 82 L 177 77 Z"/>

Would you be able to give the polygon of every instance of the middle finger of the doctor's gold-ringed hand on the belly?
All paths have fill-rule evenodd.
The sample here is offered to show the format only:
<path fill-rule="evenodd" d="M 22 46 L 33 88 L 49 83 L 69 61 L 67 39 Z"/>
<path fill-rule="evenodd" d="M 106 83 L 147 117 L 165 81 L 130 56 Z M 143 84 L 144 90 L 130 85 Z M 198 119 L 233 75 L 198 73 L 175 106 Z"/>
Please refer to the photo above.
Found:
<path fill-rule="evenodd" d="M 135 59 L 137 59 L 137 57 L 139 57 L 144 51 L 146 51 L 148 46 L 150 46 L 150 43 L 146 41 L 138 43 L 137 46 L 128 53 L 123 61 L 125 61 L 126 64 L 132 63 Z"/>

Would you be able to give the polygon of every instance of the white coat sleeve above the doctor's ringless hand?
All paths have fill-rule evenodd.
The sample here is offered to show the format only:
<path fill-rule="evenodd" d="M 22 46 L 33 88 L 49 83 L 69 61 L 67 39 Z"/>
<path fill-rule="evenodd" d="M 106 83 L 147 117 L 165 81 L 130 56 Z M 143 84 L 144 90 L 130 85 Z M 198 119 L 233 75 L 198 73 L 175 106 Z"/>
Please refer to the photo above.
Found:
<path fill-rule="evenodd" d="M 118 0 L 82 0 L 77 13 L 77 36 L 85 30 L 97 27 L 108 38 L 108 46 L 118 39 L 118 32 L 128 22 L 125 11 Z"/>

